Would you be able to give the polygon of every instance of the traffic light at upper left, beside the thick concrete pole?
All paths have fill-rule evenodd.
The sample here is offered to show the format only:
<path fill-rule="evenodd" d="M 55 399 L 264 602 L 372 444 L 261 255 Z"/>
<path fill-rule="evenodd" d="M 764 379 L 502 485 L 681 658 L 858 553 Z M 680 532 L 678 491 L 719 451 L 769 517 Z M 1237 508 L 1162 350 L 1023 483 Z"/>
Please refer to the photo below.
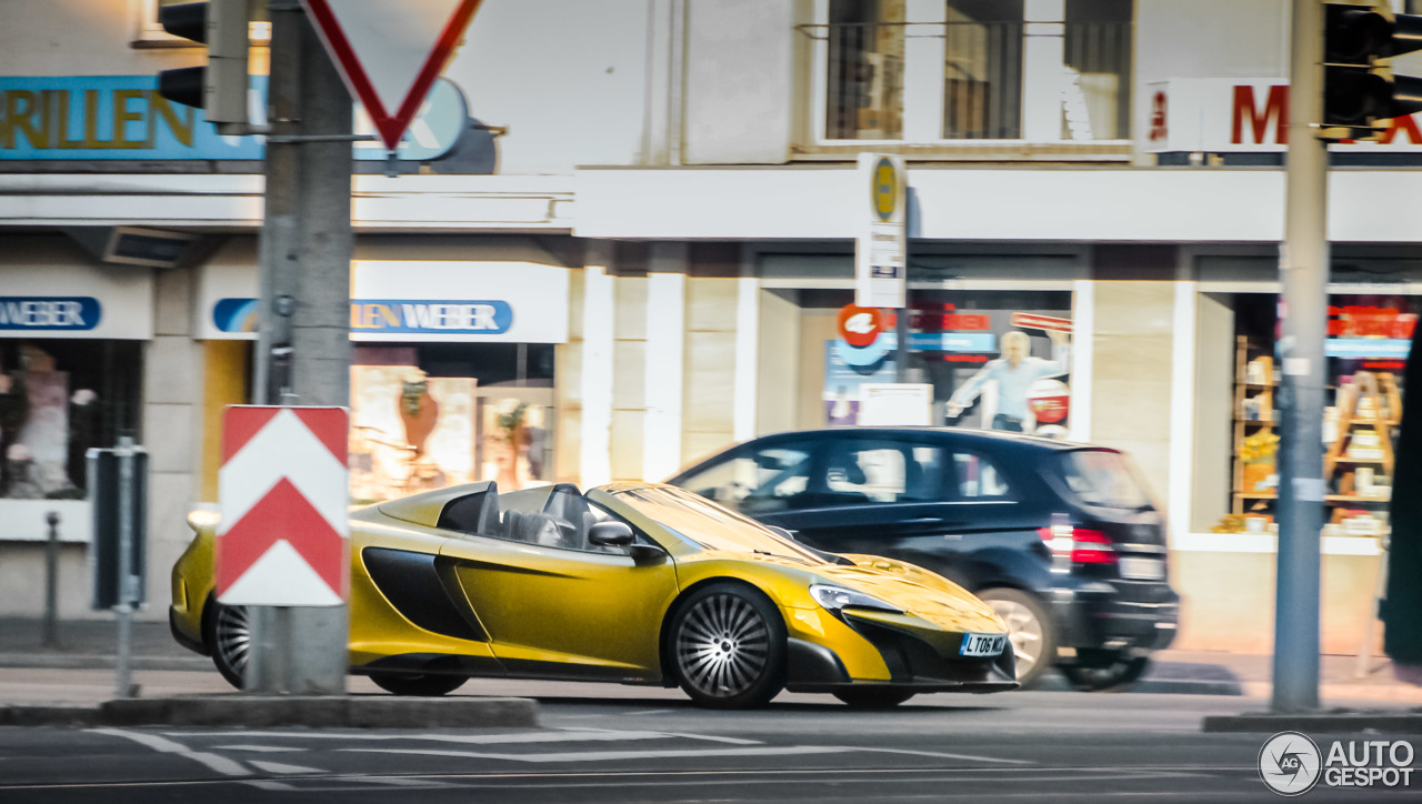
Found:
<path fill-rule="evenodd" d="M 198 107 L 212 124 L 247 122 L 247 0 L 209 0 L 164 6 L 164 30 L 208 45 L 206 67 L 164 70 L 158 94 Z"/>

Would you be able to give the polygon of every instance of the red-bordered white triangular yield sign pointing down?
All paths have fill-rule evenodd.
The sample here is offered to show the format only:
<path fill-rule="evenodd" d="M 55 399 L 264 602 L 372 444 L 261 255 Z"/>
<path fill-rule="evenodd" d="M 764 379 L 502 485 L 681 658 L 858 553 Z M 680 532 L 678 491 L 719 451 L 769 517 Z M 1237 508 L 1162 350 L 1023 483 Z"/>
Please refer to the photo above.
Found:
<path fill-rule="evenodd" d="M 301 0 L 385 148 L 400 145 L 479 0 Z"/>

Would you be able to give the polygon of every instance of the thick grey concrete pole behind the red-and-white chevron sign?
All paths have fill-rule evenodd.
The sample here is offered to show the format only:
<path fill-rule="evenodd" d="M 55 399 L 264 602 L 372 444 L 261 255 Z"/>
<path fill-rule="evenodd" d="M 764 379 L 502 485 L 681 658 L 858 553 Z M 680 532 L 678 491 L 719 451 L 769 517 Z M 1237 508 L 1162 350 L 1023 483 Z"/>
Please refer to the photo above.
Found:
<path fill-rule="evenodd" d="M 272 0 L 253 399 L 350 405 L 351 99 L 297 0 Z M 246 689 L 344 695 L 346 605 L 253 607 Z"/>

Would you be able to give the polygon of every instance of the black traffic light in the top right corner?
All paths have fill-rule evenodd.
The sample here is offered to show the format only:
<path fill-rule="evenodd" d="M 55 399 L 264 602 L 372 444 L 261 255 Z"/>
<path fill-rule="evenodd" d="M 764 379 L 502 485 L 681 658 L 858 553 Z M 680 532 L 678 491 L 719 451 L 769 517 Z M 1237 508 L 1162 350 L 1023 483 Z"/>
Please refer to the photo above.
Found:
<path fill-rule="evenodd" d="M 1422 50 L 1422 16 L 1325 3 L 1322 125 L 1367 139 L 1378 121 L 1422 111 L 1422 78 L 1384 64 L 1413 50 Z"/>

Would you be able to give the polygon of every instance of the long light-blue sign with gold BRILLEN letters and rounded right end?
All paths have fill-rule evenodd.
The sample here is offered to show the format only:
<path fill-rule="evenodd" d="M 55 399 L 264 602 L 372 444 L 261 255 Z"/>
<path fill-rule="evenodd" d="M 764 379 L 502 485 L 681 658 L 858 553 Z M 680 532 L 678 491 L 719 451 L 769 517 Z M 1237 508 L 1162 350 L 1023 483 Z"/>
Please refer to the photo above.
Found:
<path fill-rule="evenodd" d="M 253 75 L 249 108 L 262 125 L 267 78 Z M 356 107 L 357 134 L 373 134 Z M 400 142 L 398 159 L 428 161 L 468 129 L 464 94 L 441 78 Z M 357 142 L 356 159 L 385 159 L 378 142 Z M 202 109 L 158 94 L 156 75 L 0 78 L 0 159 L 262 159 L 264 138 L 222 136 Z"/>

